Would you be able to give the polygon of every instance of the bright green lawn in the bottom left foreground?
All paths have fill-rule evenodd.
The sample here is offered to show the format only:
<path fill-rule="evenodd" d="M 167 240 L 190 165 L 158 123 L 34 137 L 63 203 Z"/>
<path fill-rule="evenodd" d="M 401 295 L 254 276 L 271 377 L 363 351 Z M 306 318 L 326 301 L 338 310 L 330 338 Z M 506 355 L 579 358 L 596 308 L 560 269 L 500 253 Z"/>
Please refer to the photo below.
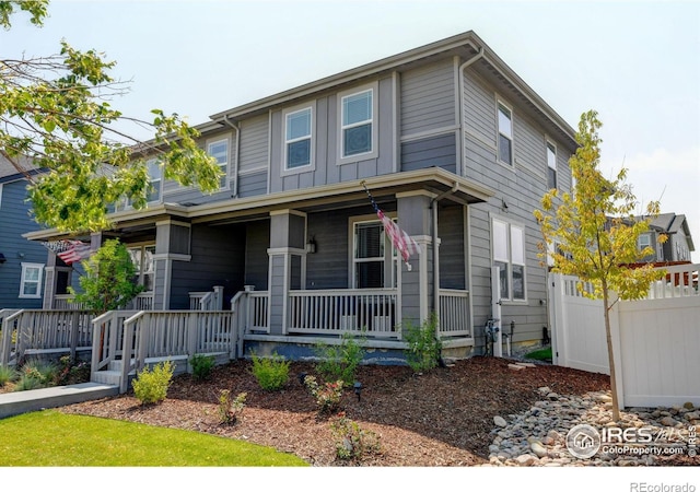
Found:
<path fill-rule="evenodd" d="M 0 420 L 4 467 L 292 467 L 271 447 L 56 410 Z"/>

